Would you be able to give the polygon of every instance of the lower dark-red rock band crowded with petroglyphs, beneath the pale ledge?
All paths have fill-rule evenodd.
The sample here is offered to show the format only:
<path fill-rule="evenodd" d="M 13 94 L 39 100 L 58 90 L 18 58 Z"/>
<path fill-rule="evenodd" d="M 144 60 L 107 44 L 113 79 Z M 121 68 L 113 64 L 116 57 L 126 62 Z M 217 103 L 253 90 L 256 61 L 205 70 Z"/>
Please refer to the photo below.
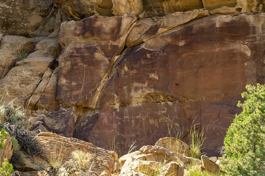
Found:
<path fill-rule="evenodd" d="M 193 110 L 193 116 L 189 115 L 186 106 Z M 154 144 L 159 138 L 168 136 L 169 130 L 174 136 L 177 132 L 177 129 L 175 131 L 173 129 L 175 123 L 179 124 L 179 130 L 183 130 L 185 136 L 187 126 L 191 126 L 195 117 L 197 116 L 197 123 L 200 123 L 201 119 L 199 102 L 171 103 L 171 105 L 166 102 L 147 103 L 119 109 L 109 105 L 105 107 L 104 112 L 99 112 L 97 115 L 98 121 L 93 125 L 90 134 L 86 136 L 87 130 L 91 129 L 89 127 L 91 123 L 86 123 L 86 120 L 77 127 L 76 137 L 85 138 L 85 141 L 95 145 L 101 141 L 99 147 L 107 149 L 115 138 L 115 148 L 122 153 L 126 152 L 131 142 L 135 140 L 136 145 L 141 147 Z"/>

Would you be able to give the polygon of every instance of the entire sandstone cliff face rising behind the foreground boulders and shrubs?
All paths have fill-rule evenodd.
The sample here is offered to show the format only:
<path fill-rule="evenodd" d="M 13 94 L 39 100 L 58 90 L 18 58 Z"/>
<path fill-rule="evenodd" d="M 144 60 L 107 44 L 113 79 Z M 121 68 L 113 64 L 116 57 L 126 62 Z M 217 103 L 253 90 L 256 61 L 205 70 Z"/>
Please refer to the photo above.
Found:
<path fill-rule="evenodd" d="M 34 129 L 127 153 L 195 121 L 214 155 L 245 85 L 265 83 L 264 1 L 0 3 L 0 95 Z"/>

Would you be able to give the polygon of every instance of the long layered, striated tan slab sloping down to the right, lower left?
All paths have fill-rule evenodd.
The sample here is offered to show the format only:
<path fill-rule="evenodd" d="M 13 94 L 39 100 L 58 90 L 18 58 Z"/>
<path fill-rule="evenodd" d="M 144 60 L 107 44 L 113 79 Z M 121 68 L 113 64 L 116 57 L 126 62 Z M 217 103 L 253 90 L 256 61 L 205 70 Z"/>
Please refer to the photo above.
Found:
<path fill-rule="evenodd" d="M 42 155 L 43 158 L 48 157 L 49 151 L 52 151 L 56 144 L 56 151 L 59 152 L 60 147 L 63 147 L 63 150 L 65 149 L 63 164 L 69 162 L 69 156 L 73 151 L 82 150 L 94 156 L 95 167 L 93 171 L 98 173 L 98 175 L 107 176 L 114 172 L 115 162 L 118 158 L 118 155 L 114 151 L 101 149 L 92 143 L 81 141 L 76 138 L 66 138 L 58 135 L 53 137 L 54 134 L 52 133 L 40 133 L 39 135 L 40 136 L 37 138 L 38 145 L 43 147 L 43 151 L 46 151 Z"/>

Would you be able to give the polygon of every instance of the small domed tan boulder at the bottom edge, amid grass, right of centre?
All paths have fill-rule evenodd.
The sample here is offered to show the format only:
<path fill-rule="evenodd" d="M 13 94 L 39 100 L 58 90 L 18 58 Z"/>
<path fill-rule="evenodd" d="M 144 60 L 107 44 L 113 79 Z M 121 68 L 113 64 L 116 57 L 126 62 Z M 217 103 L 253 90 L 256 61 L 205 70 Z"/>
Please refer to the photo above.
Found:
<path fill-rule="evenodd" d="M 160 171 L 160 176 L 183 176 L 184 168 L 176 162 L 167 163 Z"/>

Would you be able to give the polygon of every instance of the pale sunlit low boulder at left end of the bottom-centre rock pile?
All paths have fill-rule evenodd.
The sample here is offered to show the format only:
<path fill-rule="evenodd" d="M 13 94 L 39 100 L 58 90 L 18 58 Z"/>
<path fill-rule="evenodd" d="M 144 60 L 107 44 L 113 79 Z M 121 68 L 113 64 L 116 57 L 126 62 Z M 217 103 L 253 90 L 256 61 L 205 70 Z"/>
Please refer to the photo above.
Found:
<path fill-rule="evenodd" d="M 121 165 L 125 163 L 125 161 L 134 158 L 134 159 L 139 159 L 139 160 L 144 160 L 144 161 L 156 161 L 153 157 L 152 154 L 143 154 L 140 151 L 135 151 L 126 155 L 123 155 L 121 158 L 119 158 L 119 162 Z"/>

